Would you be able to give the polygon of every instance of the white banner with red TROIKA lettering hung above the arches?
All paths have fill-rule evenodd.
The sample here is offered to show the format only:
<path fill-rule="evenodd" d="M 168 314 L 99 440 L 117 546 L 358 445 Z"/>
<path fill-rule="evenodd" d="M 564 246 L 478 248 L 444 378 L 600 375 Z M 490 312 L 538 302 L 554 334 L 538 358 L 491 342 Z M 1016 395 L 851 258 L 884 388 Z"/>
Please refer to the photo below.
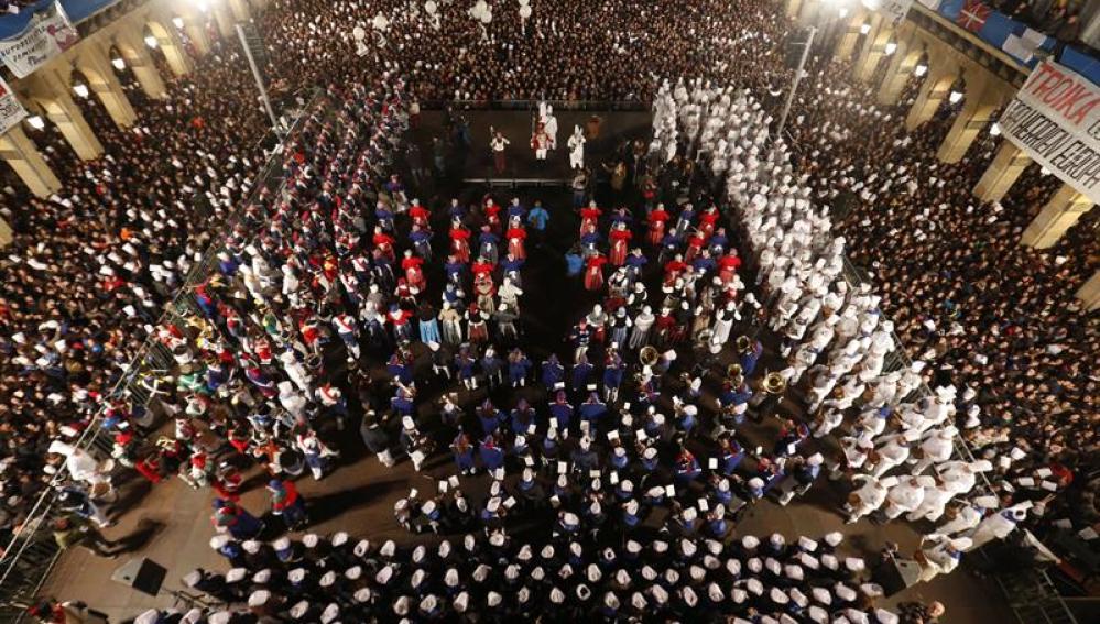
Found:
<path fill-rule="evenodd" d="M 998 124 L 1032 160 L 1100 204 L 1100 87 L 1044 61 Z"/>

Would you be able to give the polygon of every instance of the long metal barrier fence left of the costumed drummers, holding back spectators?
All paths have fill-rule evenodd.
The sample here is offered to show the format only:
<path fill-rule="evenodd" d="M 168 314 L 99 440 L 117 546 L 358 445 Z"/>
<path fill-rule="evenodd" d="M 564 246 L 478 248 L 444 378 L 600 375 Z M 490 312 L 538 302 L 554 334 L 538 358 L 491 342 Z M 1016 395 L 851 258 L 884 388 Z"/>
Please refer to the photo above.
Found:
<path fill-rule="evenodd" d="M 314 110 L 324 99 L 319 89 L 314 89 L 307 100 L 299 100 L 301 106 L 293 116 L 294 121 L 288 128 L 280 129 L 283 136 L 291 136 L 298 129 L 301 121 L 308 111 Z M 265 139 L 274 136 L 276 146 L 263 168 L 253 178 L 253 186 L 248 197 L 242 199 L 222 227 L 230 231 L 243 218 L 243 208 L 254 204 L 263 189 L 276 190 L 283 184 L 282 142 L 279 133 L 269 130 Z M 202 284 L 214 272 L 218 253 L 225 250 L 224 238 L 219 237 L 206 249 L 203 256 L 188 271 L 183 285 L 176 291 L 172 302 L 164 306 L 161 318 L 155 326 L 177 322 L 182 317 L 198 313 L 195 300 L 195 287 Z M 105 393 L 106 404 L 113 398 L 124 397 L 131 406 L 146 409 L 153 398 L 153 393 L 143 382 L 145 375 L 154 372 L 171 371 L 175 360 L 168 349 L 156 339 L 149 336 L 138 349 L 126 368 L 126 372 L 115 385 Z M 111 456 L 113 440 L 100 426 L 104 410 L 97 413 L 81 431 L 73 445 L 76 449 L 92 457 L 105 460 Z M 62 549 L 57 546 L 53 530 L 53 522 L 65 514 L 56 504 L 56 488 L 66 479 L 66 469 L 59 467 L 51 479 L 48 486 L 34 502 L 11 540 L 0 554 L 0 622 L 21 622 L 28 616 L 26 610 L 33 604 L 42 587 L 45 584 Z"/>

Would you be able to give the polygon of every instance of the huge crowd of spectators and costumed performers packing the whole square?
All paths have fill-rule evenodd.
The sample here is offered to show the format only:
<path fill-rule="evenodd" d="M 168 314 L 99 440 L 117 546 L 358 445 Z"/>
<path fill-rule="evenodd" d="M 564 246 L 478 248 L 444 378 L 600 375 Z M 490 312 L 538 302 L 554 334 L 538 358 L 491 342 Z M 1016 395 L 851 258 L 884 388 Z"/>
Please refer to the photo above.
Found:
<path fill-rule="evenodd" d="M 786 141 L 791 166 L 784 168 L 758 142 L 767 141 L 761 129 L 773 121 L 767 112 L 788 76 L 782 48 L 788 22 L 771 3 L 699 0 L 635 11 L 623 2 L 569 1 L 537 7 L 525 23 L 501 7 L 484 28 L 455 3 L 440 2 L 438 20 L 409 7 L 276 1 L 258 17 L 275 84 L 316 85 L 327 95 L 326 108 L 305 113 L 283 152 L 290 199 L 263 194 L 243 201 L 265 161 L 258 144 L 265 118 L 229 42 L 215 41 L 211 54 L 196 58 L 196 72 L 168 80 L 164 100 L 144 98 L 123 72 L 139 114 L 134 129 L 116 128 L 94 101 L 81 100 L 105 147 L 97 161 L 76 158 L 52 125 L 29 132 L 64 188 L 37 199 L 12 180 L 0 208 L 15 234 L 0 261 L 0 524 L 8 535 L 62 464 L 74 478 L 59 491 L 73 516 L 54 527 L 58 541 L 72 537 L 74 525 L 96 536 L 96 527 L 109 524 L 100 510 L 110 492 L 102 464 L 72 448 L 88 426 L 105 427 L 115 460 L 151 481 L 179 474 L 211 488 L 216 526 L 242 543 L 262 528 L 237 504 L 241 462 L 257 461 L 272 477 L 272 510 L 298 528 L 307 517 L 293 479 L 330 470 L 337 457 L 323 441 L 325 429 L 342 429 L 356 406 L 364 412 L 363 442 L 383 463 L 407 456 L 418 468 L 442 450 L 442 438 L 450 444 L 456 478 L 487 471 L 499 483 L 476 503 L 454 483 L 429 496 L 411 492 L 395 510 L 399 523 L 445 532 L 476 525 L 486 528 L 476 548 L 519 556 L 524 548 L 511 544 L 503 516 L 543 514 L 559 550 L 580 545 L 582 554 L 568 561 L 570 573 L 579 579 L 589 563 L 599 568 L 586 584 L 590 599 L 578 593 L 580 580 L 567 576 L 543 588 L 549 593 L 542 602 L 513 604 L 509 596 L 502 615 L 545 607 L 545 600 L 553 604 L 557 588 L 567 596 L 562 602 L 580 610 L 570 613 L 610 620 L 630 605 L 642 609 L 634 595 L 645 605 L 662 592 L 666 601 L 672 593 L 686 604 L 676 609 L 687 611 L 674 612 L 682 616 L 753 610 L 783 621 L 795 604 L 798 615 L 815 617 L 813 600 L 802 604 L 793 594 L 799 590 L 786 588 L 820 583 L 780 583 L 782 574 L 767 579 L 764 572 L 754 585 L 763 593 L 749 588 L 739 601 L 720 589 L 719 598 L 691 592 L 691 600 L 675 580 L 646 578 L 650 589 L 634 591 L 638 579 L 631 579 L 645 577 L 644 558 L 625 567 L 623 587 L 616 567 L 596 559 L 608 533 L 601 537 L 601 527 L 630 534 L 632 523 L 655 523 L 693 545 L 684 547 L 698 556 L 677 558 L 675 567 L 705 588 L 732 570 L 718 554 L 711 559 L 721 569 L 706 561 L 709 546 L 695 546 L 695 539 L 728 541 L 734 503 L 752 504 L 775 490 L 789 501 L 823 470 L 852 481 L 845 511 L 850 519 L 881 507 L 886 517 L 930 522 L 985 472 L 995 485 L 992 500 L 959 496 L 962 504 L 950 507 L 945 523 L 954 530 L 938 530 L 925 549 L 924 569 L 933 576 L 954 568 L 957 552 L 1003 537 L 1017 521 L 1041 534 L 1076 533 L 1100 517 L 1087 471 L 1094 466 L 1100 413 L 1088 363 L 1100 353 L 1100 338 L 1096 316 L 1072 299 L 1098 267 L 1094 218 L 1086 216 L 1052 250 L 1017 244 L 1057 187 L 1053 176 L 1032 167 L 1003 201 L 979 201 L 970 189 L 995 143 L 979 140 L 959 164 L 940 163 L 936 149 L 952 121 L 947 105 L 906 131 L 901 118 L 907 97 L 879 106 L 874 90 L 853 83 L 842 63 L 824 61 L 795 101 Z M 374 25 L 377 14 L 385 15 L 384 28 Z M 356 23 L 370 37 L 364 57 L 357 55 Z M 418 45 L 422 36 L 442 44 Z M 737 62 L 750 57 L 753 63 Z M 662 88 L 665 79 L 671 81 Z M 638 152 L 650 175 L 642 167 L 630 177 L 636 188 L 656 191 L 640 194 L 646 199 L 636 204 L 578 211 L 581 228 L 570 255 L 600 304 L 577 310 L 570 350 L 542 362 L 531 359 L 522 339 L 521 302 L 530 286 L 523 278 L 527 232 L 537 240 L 543 217 L 508 205 L 510 198 L 488 198 L 472 210 L 457 202 L 425 208 L 393 175 L 417 101 L 533 98 L 653 101 L 655 113 L 654 143 Z M 771 166 L 778 175 L 771 168 L 763 177 L 751 174 Z M 767 184 L 772 195 L 759 189 Z M 241 223 L 227 231 L 238 218 Z M 808 229 L 784 233 L 794 222 Z M 254 237 L 257 231 L 263 233 Z M 836 244 L 838 236 L 843 242 Z M 784 237 L 791 237 L 786 243 Z M 215 274 L 192 295 L 194 314 L 159 325 L 211 244 L 224 252 Z M 797 252 L 801 244 L 810 245 L 806 255 Z M 738 275 L 738 248 L 755 274 Z M 865 286 L 840 286 L 843 252 Z M 758 308 L 787 360 L 766 381 L 773 388 L 781 382 L 805 388 L 808 409 L 806 422 L 785 426 L 769 452 L 745 452 L 738 427 L 747 415 L 774 414 L 776 401 L 769 397 L 782 391 L 770 393 L 763 375 L 753 376 L 755 341 L 742 350 L 721 346 L 758 317 Z M 880 310 L 892 322 L 880 321 Z M 826 322 L 830 316 L 836 321 Z M 868 339 L 849 349 L 845 339 L 857 335 Z M 175 428 L 159 440 L 145 430 L 152 415 L 144 406 L 111 393 L 146 339 L 174 359 L 175 374 L 159 393 L 156 412 L 171 414 Z M 643 361 L 647 346 L 654 349 Z M 917 363 L 907 372 L 885 371 L 886 355 L 898 349 Z M 341 350 L 349 355 L 346 381 L 334 377 L 324 357 Z M 729 360 L 731 351 L 740 380 L 719 365 L 719 354 Z M 372 359 L 384 362 L 384 382 L 369 373 Z M 424 384 L 413 371 L 428 362 L 429 383 L 465 393 L 444 402 L 440 427 L 418 417 Z M 716 380 L 720 388 L 708 403 L 701 390 Z M 924 383 L 933 396 L 910 396 Z M 491 397 L 470 405 L 486 384 L 498 396 L 501 388 L 529 385 L 545 396 L 537 404 L 509 395 L 507 405 Z M 665 402 L 674 397 L 671 412 L 661 408 L 662 394 Z M 808 450 L 813 439 L 834 435 L 842 455 Z M 962 461 L 941 441 L 956 437 L 978 462 Z M 226 445 L 241 462 L 221 461 L 217 450 Z M 887 474 L 894 469 L 897 474 Z M 956 491 L 952 483 L 960 482 Z M 990 514 L 996 508 L 1004 512 Z M 998 518 L 1013 524 L 996 525 Z M 780 545 L 772 560 L 783 568 L 792 562 L 785 557 L 799 552 Z M 395 560 L 392 551 L 372 554 L 368 547 L 355 554 L 362 561 L 339 558 L 337 573 L 366 566 L 363 578 L 373 577 Z M 739 555 L 739 567 L 752 565 L 751 550 Z M 271 567 L 253 559 L 249 578 Z M 672 562 L 666 555 L 658 559 Z M 756 565 L 770 569 L 769 561 Z M 480 563 L 464 560 L 464 582 L 477 577 Z M 559 563 L 553 574 L 560 577 Z M 501 582 L 512 578 L 498 556 L 484 565 L 486 573 L 503 574 Z M 663 578 L 664 569 L 650 565 Z M 512 573 L 527 578 L 524 566 Z M 704 580 L 691 576 L 695 567 Z M 318 577 L 336 569 L 316 560 L 306 568 Z M 438 578 L 426 585 L 436 601 L 427 601 L 422 616 L 454 613 L 464 591 L 467 601 L 493 606 L 493 592 L 451 592 L 459 585 L 446 582 L 450 569 L 424 566 Z M 405 566 L 396 576 L 413 570 Z M 832 576 L 825 574 L 830 583 L 839 580 Z M 273 587 L 255 584 L 260 591 Z M 414 600 L 385 593 L 384 583 L 350 584 L 356 587 L 338 609 L 361 609 L 355 596 L 368 585 L 373 607 L 396 609 L 403 599 L 411 613 L 424 610 L 428 595 Z M 775 585 L 786 600 L 772 596 Z M 233 591 L 247 602 L 248 594 Z M 802 591 L 804 599 L 810 595 Z M 327 609 L 316 593 L 303 590 L 302 598 L 309 602 L 303 609 Z M 273 609 L 255 606 L 261 615 Z M 280 609 L 295 606 L 286 601 Z M 829 617 L 849 609 L 863 614 L 847 615 L 851 622 L 884 624 L 894 616 L 874 615 L 863 598 L 835 606 L 827 609 Z"/>

